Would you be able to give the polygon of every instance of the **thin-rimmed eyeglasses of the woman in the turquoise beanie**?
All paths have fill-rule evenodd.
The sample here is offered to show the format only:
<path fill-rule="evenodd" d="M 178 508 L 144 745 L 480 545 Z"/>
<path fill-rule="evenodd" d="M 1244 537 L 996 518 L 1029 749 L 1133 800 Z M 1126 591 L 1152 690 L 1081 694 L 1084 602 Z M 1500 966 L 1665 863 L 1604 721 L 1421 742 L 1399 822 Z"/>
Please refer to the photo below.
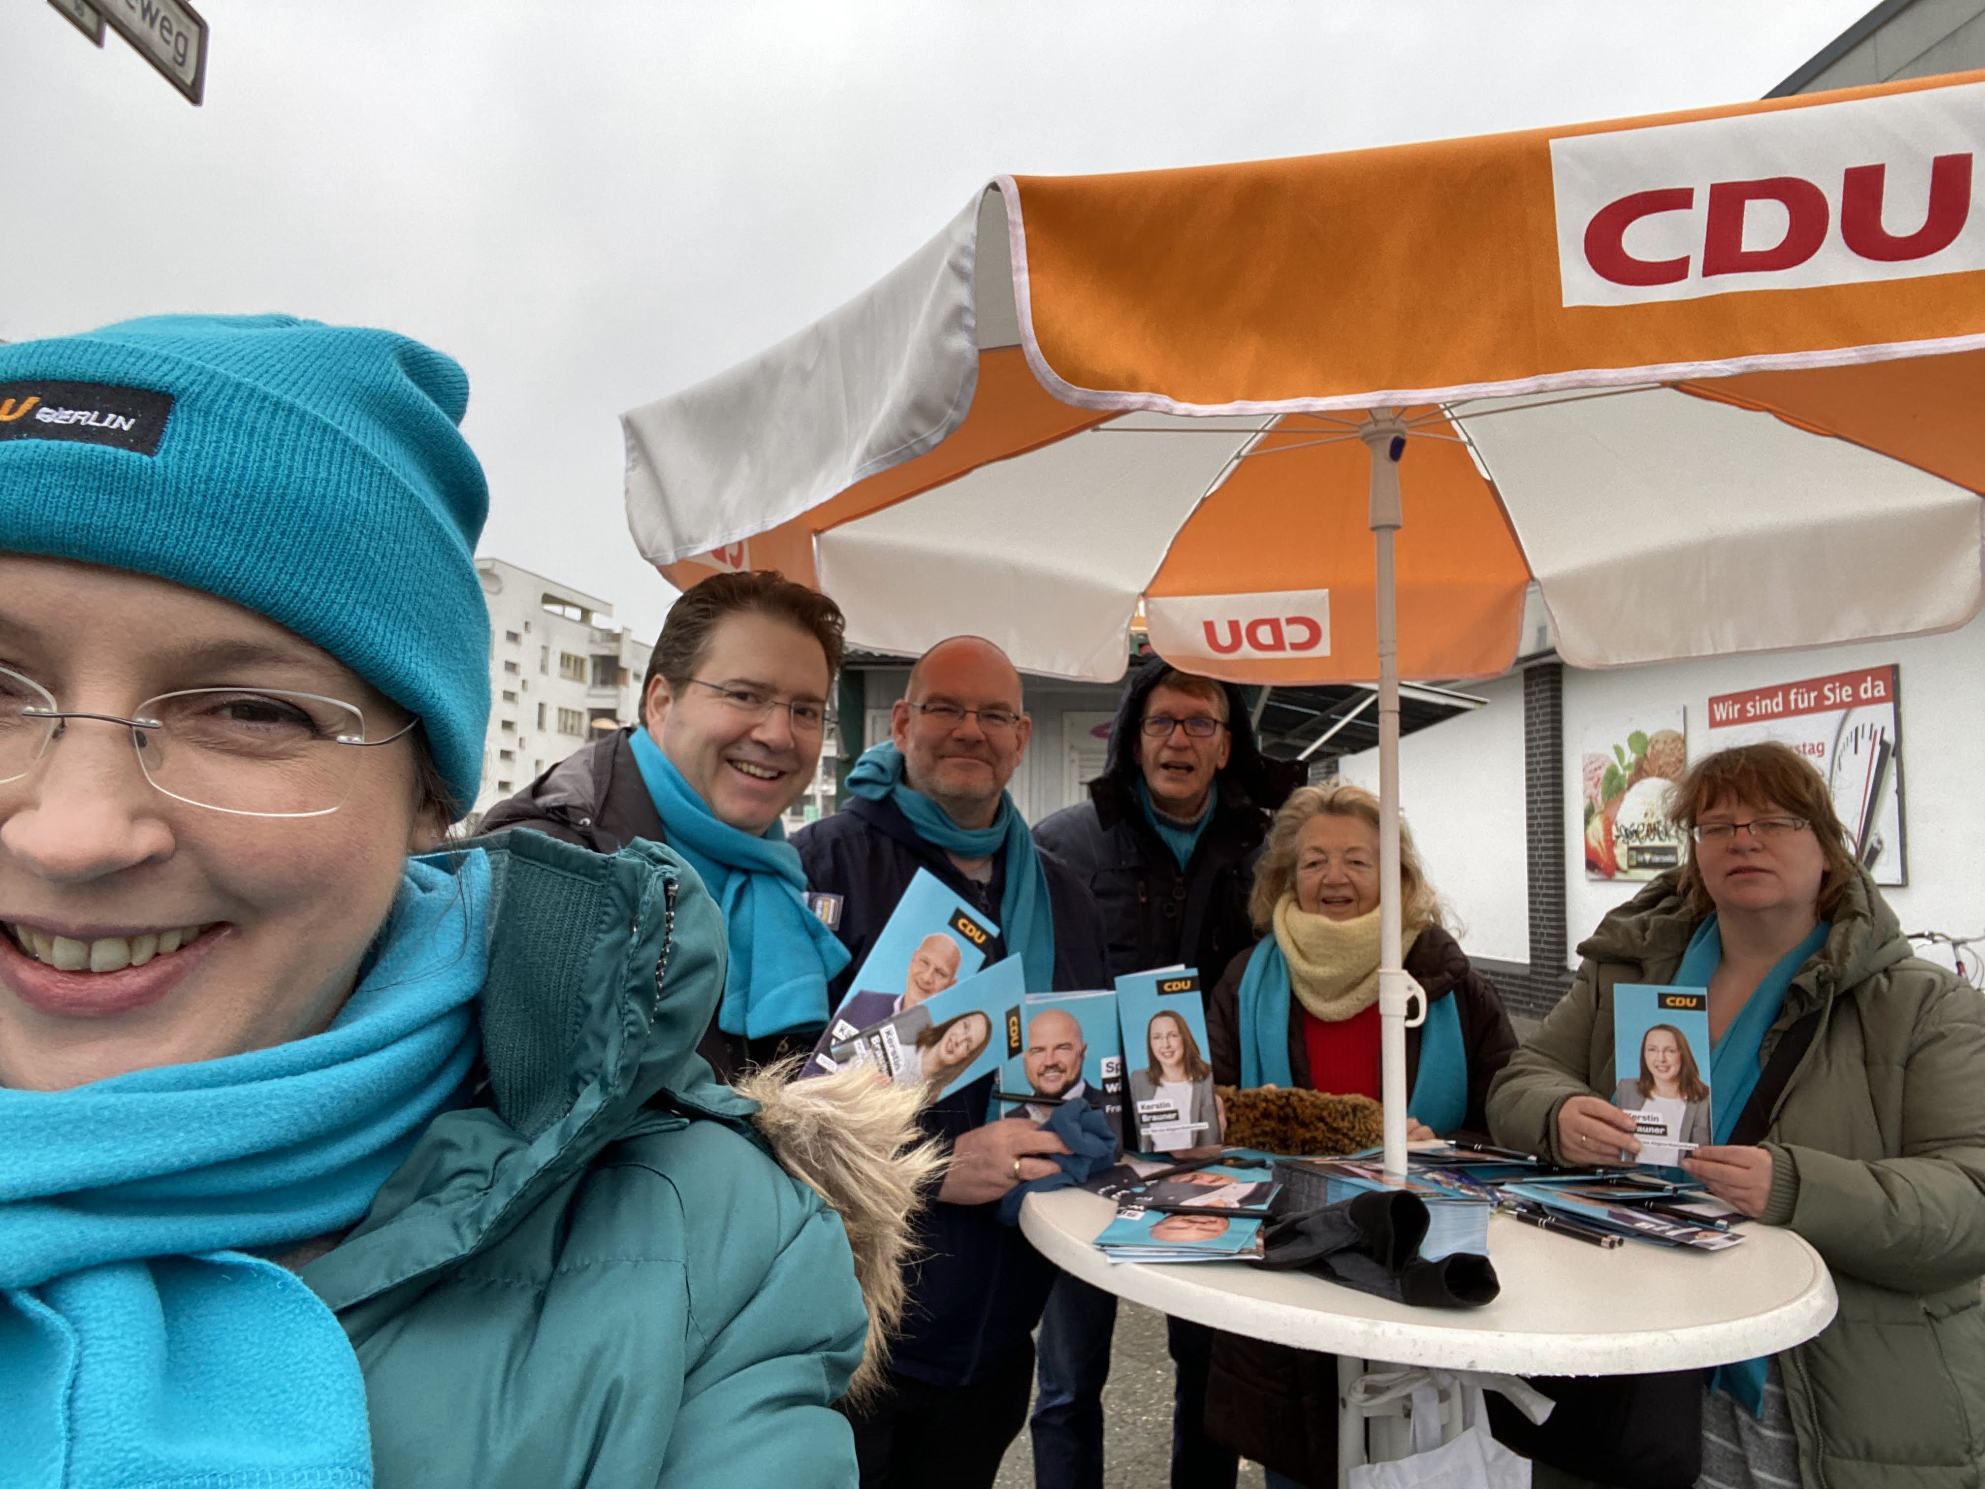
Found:
<path fill-rule="evenodd" d="M 64 711 L 56 695 L 0 667 L 0 786 L 26 778 L 71 719 L 129 731 L 145 780 L 189 806 L 234 816 L 328 816 L 357 778 L 355 748 L 391 744 L 419 719 L 365 739 L 357 705 L 270 687 L 193 687 L 129 719 Z"/>

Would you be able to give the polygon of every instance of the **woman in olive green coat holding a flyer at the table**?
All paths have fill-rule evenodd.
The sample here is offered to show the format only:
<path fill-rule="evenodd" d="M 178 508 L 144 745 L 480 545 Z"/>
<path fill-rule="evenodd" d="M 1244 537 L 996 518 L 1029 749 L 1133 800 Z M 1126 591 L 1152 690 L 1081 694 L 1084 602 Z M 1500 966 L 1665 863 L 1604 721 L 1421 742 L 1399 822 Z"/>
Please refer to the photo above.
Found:
<path fill-rule="evenodd" d="M 1636 1148 L 1630 1118 L 1598 1096 L 1616 1086 L 1614 987 L 1673 981 L 1705 925 L 1721 923 L 1709 977 L 1721 1042 L 1773 991 L 1777 953 L 1788 981 L 1759 1062 L 1808 1015 L 1812 1042 L 1763 1140 L 1697 1150 L 1691 1169 L 1765 1225 L 1802 1235 L 1832 1269 L 1834 1322 L 1771 1368 L 1796 1473 L 1808 1489 L 1973 1489 L 1985 1481 L 1985 999 L 1912 955 L 1844 852 L 1824 782 L 1785 746 L 1709 756 L 1677 798 L 1695 838 L 1689 864 L 1580 945 L 1572 989 L 1489 1094 L 1491 1130 L 1574 1163 Z M 1761 909 L 1779 913 L 1783 945 L 1743 943 Z M 1719 1084 L 1719 1134 L 1735 1118 L 1725 1100 Z M 1719 1412 L 1759 1465 L 1769 1447 L 1711 1394 L 1705 1469 L 1719 1451 L 1729 1467 L 1713 1441 Z"/>

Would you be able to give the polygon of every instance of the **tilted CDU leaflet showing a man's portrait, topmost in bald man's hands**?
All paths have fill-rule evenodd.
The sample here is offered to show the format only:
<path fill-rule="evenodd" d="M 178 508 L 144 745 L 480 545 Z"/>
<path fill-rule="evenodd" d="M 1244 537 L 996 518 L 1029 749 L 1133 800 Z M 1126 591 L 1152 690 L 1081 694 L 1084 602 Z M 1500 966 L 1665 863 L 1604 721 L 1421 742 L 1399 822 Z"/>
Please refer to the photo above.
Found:
<path fill-rule="evenodd" d="M 846 1044 L 863 1028 L 977 973 L 996 937 L 998 925 L 947 889 L 935 874 L 917 870 L 800 1074 L 824 1076 L 836 1070 L 836 1044 Z"/>

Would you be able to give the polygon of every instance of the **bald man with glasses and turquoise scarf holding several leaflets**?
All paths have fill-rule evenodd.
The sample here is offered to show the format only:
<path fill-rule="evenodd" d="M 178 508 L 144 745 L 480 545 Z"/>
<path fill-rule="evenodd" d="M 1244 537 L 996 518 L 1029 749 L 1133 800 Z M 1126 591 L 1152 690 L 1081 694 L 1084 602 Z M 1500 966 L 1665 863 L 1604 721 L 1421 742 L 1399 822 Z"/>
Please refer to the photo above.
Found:
<path fill-rule="evenodd" d="M 939 641 L 911 669 L 889 743 L 848 776 L 840 812 L 794 834 L 808 883 L 842 895 L 836 935 L 860 967 L 917 870 L 1000 927 L 989 961 L 1016 955 L 1030 991 L 1108 987 L 1104 929 L 1082 880 L 1038 852 L 1006 796 L 1032 731 L 1020 675 L 991 641 Z M 846 991 L 850 975 L 834 983 Z M 943 1187 L 919 1217 L 889 1394 L 850 1412 L 863 1485 L 989 1489 L 1026 1418 L 1030 1334 L 1056 1271 L 998 1201 L 1056 1171 L 1060 1138 L 1026 1118 L 987 1122 L 992 1076 L 925 1108 L 951 1150 Z"/>

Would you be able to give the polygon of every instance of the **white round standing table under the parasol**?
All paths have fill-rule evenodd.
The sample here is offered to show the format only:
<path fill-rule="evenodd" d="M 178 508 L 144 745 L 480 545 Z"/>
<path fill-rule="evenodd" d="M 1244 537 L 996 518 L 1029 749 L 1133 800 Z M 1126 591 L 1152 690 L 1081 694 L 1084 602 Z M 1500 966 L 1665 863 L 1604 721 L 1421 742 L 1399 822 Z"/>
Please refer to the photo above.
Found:
<path fill-rule="evenodd" d="M 1826 1263 L 1777 1225 L 1747 1225 L 1741 1247 L 1709 1253 L 1632 1241 L 1600 1249 L 1493 1215 L 1501 1296 L 1483 1308 L 1409 1308 L 1247 1263 L 1110 1263 L 1094 1241 L 1114 1215 L 1112 1199 L 1056 1189 L 1026 1197 L 1020 1229 L 1064 1273 L 1106 1292 L 1342 1360 L 1509 1376 L 1691 1370 L 1786 1350 L 1826 1328 L 1836 1308 Z M 1340 1445 L 1342 1479 L 1362 1461 L 1348 1425 Z"/>

